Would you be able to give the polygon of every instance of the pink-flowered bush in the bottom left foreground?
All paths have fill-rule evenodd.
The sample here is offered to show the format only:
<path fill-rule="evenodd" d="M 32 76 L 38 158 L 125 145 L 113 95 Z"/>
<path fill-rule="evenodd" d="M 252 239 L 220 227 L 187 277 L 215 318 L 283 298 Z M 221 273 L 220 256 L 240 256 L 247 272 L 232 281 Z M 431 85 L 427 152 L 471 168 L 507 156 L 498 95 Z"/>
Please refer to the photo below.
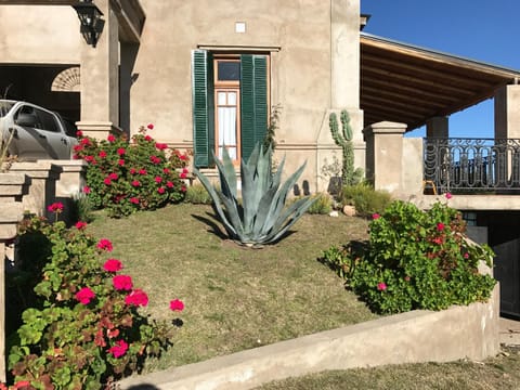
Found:
<path fill-rule="evenodd" d="M 120 273 L 123 263 L 109 257 L 113 244 L 87 230 L 86 223 L 66 229 L 64 222 L 48 224 L 41 218 L 21 227 L 21 237 L 47 238 L 38 249 L 49 258 L 35 287 L 39 300 L 23 312 L 18 340 L 10 348 L 9 369 L 16 384 L 36 389 L 108 388 L 171 344 L 180 322 L 142 315 L 139 308 L 148 304 L 148 296 Z M 172 312 L 183 309 L 179 299 L 170 303 Z"/>

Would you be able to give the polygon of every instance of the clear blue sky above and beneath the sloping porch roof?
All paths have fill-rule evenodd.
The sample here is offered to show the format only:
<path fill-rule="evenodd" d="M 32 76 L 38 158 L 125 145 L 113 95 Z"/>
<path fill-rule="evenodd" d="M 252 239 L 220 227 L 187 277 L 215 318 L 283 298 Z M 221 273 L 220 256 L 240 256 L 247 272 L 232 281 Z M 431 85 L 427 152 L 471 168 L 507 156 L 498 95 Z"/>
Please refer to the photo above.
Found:
<path fill-rule="evenodd" d="M 361 12 L 364 32 L 520 72 L 520 0 L 361 0 Z M 493 100 L 450 116 L 450 136 L 493 133 Z"/>

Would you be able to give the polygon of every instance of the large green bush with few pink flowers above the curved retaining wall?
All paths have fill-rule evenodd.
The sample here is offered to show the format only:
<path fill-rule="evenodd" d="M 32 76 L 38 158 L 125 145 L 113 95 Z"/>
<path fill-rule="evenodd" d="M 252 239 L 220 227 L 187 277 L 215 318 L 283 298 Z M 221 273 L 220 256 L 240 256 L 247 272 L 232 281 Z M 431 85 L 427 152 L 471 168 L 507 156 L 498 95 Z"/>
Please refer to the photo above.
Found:
<path fill-rule="evenodd" d="M 486 300 L 495 281 L 478 272 L 482 260 L 491 266 L 492 250 L 471 243 L 465 229 L 445 204 L 425 212 L 393 202 L 373 216 L 367 244 L 330 248 L 323 261 L 379 313 L 469 304 Z"/>

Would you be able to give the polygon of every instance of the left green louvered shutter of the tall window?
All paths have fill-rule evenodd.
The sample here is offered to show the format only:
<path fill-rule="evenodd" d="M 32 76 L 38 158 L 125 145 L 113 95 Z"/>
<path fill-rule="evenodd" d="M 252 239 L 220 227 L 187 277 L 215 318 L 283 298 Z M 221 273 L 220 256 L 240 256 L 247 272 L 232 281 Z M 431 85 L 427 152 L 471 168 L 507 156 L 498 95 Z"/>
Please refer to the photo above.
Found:
<path fill-rule="evenodd" d="M 208 167 L 214 144 L 213 72 L 211 54 L 192 52 L 193 150 L 195 167 Z"/>

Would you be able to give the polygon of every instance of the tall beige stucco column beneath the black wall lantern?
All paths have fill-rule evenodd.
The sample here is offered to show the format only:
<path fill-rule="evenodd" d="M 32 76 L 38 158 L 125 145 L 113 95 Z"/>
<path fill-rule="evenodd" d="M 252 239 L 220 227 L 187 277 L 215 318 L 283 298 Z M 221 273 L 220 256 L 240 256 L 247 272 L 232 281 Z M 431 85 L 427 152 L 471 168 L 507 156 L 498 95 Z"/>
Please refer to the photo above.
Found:
<path fill-rule="evenodd" d="M 105 21 L 96 47 L 81 39 L 81 120 L 84 135 L 104 139 L 119 126 L 118 22 L 109 0 L 96 0 Z"/>

